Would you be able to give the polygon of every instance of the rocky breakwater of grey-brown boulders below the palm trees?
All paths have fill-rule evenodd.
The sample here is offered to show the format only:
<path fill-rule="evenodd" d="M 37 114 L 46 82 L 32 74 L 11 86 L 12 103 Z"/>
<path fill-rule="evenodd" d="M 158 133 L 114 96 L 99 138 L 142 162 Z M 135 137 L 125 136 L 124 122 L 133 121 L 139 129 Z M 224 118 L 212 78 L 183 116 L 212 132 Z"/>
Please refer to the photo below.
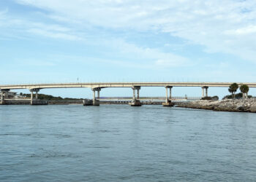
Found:
<path fill-rule="evenodd" d="M 196 100 L 178 103 L 177 107 L 198 108 L 213 111 L 234 111 L 256 113 L 256 98 L 225 99 L 225 100 Z"/>

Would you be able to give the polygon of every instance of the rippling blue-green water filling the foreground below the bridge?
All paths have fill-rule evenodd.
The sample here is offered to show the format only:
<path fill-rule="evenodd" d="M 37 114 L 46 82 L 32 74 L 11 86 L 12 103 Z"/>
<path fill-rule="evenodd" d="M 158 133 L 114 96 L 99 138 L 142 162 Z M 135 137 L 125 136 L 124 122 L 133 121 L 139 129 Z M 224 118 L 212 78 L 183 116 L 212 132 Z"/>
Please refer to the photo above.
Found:
<path fill-rule="evenodd" d="M 256 114 L 0 106 L 0 181 L 256 181 Z"/>

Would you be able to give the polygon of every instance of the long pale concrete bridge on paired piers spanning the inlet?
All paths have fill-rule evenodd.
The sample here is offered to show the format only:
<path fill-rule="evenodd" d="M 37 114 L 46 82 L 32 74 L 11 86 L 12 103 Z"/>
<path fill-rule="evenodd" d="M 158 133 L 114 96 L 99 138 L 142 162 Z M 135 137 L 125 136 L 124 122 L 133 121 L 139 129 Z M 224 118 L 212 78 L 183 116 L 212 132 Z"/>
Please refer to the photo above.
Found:
<path fill-rule="evenodd" d="M 53 88 L 91 88 L 93 91 L 93 106 L 99 106 L 99 92 L 107 87 L 131 87 L 133 90 L 133 97 L 131 106 L 140 106 L 140 87 L 165 87 L 165 103 L 163 106 L 171 106 L 171 90 L 173 87 L 202 87 L 202 97 L 208 96 L 208 87 L 229 87 L 233 82 L 94 82 L 94 83 L 58 83 L 58 84 L 10 84 L 0 85 L 1 89 L 1 104 L 4 104 L 4 99 L 8 98 L 10 90 L 29 89 L 31 92 L 31 104 L 41 89 Z M 249 87 L 256 87 L 256 83 L 238 83 L 247 84 Z M 169 90 L 169 91 L 168 91 Z M 137 91 L 137 95 L 136 95 Z M 97 92 L 97 97 L 95 96 Z M 169 92 L 169 95 L 168 95 Z"/>

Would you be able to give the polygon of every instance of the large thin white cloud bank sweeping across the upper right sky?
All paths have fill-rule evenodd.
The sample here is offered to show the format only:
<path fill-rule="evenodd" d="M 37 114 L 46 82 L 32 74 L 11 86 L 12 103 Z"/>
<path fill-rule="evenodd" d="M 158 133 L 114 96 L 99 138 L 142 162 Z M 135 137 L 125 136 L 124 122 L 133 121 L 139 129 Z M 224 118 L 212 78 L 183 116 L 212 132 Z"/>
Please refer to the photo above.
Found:
<path fill-rule="evenodd" d="M 167 32 L 203 45 L 208 52 L 225 52 L 256 60 L 255 0 L 18 2 L 47 9 L 55 20 L 59 18 L 103 28 Z"/>

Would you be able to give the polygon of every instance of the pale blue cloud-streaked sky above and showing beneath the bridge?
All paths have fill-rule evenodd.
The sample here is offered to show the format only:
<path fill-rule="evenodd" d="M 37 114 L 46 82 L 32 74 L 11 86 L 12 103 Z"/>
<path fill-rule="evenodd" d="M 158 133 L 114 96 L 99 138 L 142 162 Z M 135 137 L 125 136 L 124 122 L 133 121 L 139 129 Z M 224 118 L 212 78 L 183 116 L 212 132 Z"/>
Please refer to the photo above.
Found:
<path fill-rule="evenodd" d="M 1 0 L 0 55 L 0 84 L 256 82 L 256 1 Z M 41 93 L 91 97 L 86 88 Z M 140 95 L 163 96 L 165 88 Z M 201 88 L 173 88 L 184 95 L 200 96 Z"/>

